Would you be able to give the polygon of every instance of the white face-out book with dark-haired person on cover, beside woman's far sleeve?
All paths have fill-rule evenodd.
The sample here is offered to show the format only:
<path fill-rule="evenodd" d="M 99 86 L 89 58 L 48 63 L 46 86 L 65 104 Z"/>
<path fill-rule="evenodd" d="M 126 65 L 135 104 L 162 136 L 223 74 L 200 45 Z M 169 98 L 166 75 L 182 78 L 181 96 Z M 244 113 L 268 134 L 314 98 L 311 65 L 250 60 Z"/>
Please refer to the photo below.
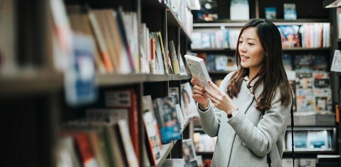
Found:
<path fill-rule="evenodd" d="M 189 82 L 181 84 L 181 109 L 185 119 L 198 115 L 195 101 L 192 98 L 192 88 Z"/>

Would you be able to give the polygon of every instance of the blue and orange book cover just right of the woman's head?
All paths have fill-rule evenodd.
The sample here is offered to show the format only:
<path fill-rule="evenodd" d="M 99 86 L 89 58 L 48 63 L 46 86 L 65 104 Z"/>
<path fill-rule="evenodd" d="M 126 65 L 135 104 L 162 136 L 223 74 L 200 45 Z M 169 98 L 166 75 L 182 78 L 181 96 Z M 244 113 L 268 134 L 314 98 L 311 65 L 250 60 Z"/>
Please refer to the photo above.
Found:
<path fill-rule="evenodd" d="M 281 33 L 282 47 L 301 47 L 299 35 L 300 26 L 298 25 L 279 25 L 277 26 Z"/>

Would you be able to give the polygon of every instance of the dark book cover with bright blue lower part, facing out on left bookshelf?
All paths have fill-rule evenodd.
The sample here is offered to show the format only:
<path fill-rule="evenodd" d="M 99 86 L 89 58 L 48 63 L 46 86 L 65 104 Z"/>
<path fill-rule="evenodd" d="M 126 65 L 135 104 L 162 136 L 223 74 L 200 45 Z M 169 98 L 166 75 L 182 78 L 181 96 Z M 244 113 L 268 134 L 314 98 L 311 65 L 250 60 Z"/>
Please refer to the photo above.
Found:
<path fill-rule="evenodd" d="M 172 140 L 181 139 L 175 99 L 173 97 L 156 98 L 153 100 L 153 108 L 160 130 L 161 143 L 166 144 Z"/>

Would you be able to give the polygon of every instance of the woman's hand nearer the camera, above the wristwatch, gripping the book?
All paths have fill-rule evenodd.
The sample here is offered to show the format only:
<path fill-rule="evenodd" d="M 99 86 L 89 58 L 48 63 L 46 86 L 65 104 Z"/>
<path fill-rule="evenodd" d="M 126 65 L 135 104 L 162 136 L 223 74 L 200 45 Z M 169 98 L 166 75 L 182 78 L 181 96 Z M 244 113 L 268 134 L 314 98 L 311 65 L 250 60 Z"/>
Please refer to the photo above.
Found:
<path fill-rule="evenodd" d="M 231 110 L 236 108 L 236 106 L 233 105 L 231 98 L 226 93 L 222 92 L 212 81 L 208 81 L 208 84 L 212 89 L 210 90 L 205 87 L 205 91 L 214 106 L 219 110 L 225 111 L 227 114 L 231 114 Z"/>

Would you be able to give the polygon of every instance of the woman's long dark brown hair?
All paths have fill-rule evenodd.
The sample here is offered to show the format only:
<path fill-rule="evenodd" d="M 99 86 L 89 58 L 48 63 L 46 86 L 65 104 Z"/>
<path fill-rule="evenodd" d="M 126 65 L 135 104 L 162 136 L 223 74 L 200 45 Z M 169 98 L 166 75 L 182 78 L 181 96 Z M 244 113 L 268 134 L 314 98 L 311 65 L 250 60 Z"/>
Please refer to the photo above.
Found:
<path fill-rule="evenodd" d="M 242 35 L 243 31 L 248 27 L 255 27 L 257 35 L 261 41 L 262 47 L 265 51 L 265 58 L 263 60 L 263 67 L 261 70 L 252 78 L 259 77 L 253 86 L 253 94 L 263 82 L 263 92 L 256 98 L 258 110 L 270 109 L 271 102 L 275 98 L 277 91 L 280 90 L 281 96 L 279 101 L 284 106 L 288 106 L 290 103 L 290 87 L 289 82 L 283 66 L 283 54 L 282 54 L 282 41 L 281 35 L 278 28 L 272 22 L 265 19 L 252 19 L 244 25 L 240 31 L 238 40 Z M 243 82 L 243 78 L 248 75 L 249 69 L 242 67 L 241 58 L 239 55 L 239 42 L 237 42 L 236 49 L 236 60 L 239 70 L 232 75 L 230 83 L 227 86 L 228 96 L 237 97 Z M 251 80 L 251 81 L 252 81 Z M 250 81 L 250 82 L 251 82 Z M 249 83 L 250 83 L 249 82 Z"/>

